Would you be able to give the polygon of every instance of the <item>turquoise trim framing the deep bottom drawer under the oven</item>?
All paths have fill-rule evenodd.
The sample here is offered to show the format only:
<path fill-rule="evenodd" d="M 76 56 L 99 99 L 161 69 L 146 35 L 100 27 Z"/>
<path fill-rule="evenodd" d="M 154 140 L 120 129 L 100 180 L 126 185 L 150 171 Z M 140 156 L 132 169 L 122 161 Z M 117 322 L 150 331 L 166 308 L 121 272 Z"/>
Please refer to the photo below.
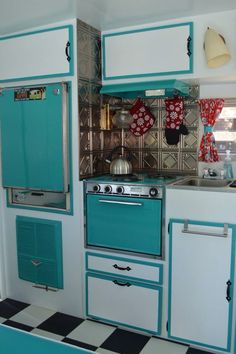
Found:
<path fill-rule="evenodd" d="M 157 321 L 157 330 L 156 331 L 150 331 L 150 330 L 147 330 L 145 328 L 141 328 L 141 327 L 136 327 L 136 326 L 132 326 L 132 325 L 128 325 L 126 323 L 122 323 L 122 322 L 118 322 L 118 321 L 112 321 L 112 320 L 108 320 L 106 318 L 103 318 L 103 317 L 99 317 L 99 316 L 94 316 L 92 314 L 89 313 L 89 309 L 88 309 L 88 277 L 94 277 L 94 278 L 99 278 L 99 279 L 105 279 L 105 280 L 114 280 L 114 279 L 120 279 L 120 277 L 116 277 L 116 276 L 107 276 L 107 275 L 103 275 L 103 274 L 99 274 L 99 273 L 89 273 L 87 272 L 86 273 L 86 316 L 87 317 L 91 317 L 91 318 L 94 318 L 94 319 L 97 319 L 97 320 L 101 320 L 101 321 L 105 321 L 107 323 L 111 323 L 111 324 L 115 324 L 115 325 L 123 325 L 125 327 L 128 327 L 128 328 L 133 328 L 133 329 L 137 329 L 137 330 L 141 330 L 141 331 L 144 331 L 144 332 L 147 332 L 147 333 L 151 333 L 151 334 L 155 334 L 155 335 L 160 335 L 161 334 L 161 321 L 162 321 L 162 301 L 163 301 L 163 298 L 162 298 L 162 287 L 160 286 L 157 286 L 157 285 L 150 285 L 150 284 L 146 284 L 146 283 L 141 283 L 141 282 L 136 282 L 136 281 L 130 281 L 129 282 L 132 284 L 132 285 L 135 285 L 135 286 L 140 286 L 140 287 L 143 287 L 143 288 L 149 288 L 149 289 L 154 289 L 154 290 L 157 290 L 158 293 L 159 293 L 159 296 L 158 296 L 158 303 L 157 303 L 157 308 L 158 308 L 158 321 Z"/>

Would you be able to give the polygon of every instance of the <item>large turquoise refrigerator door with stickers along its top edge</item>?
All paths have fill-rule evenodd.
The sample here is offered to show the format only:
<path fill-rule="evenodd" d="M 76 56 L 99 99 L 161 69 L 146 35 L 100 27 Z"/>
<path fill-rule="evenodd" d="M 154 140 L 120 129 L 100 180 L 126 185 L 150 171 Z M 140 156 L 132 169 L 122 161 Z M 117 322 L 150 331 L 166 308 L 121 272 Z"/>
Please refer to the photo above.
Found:
<path fill-rule="evenodd" d="M 4 187 L 64 190 L 62 85 L 41 87 L 45 99 L 0 96 Z"/>

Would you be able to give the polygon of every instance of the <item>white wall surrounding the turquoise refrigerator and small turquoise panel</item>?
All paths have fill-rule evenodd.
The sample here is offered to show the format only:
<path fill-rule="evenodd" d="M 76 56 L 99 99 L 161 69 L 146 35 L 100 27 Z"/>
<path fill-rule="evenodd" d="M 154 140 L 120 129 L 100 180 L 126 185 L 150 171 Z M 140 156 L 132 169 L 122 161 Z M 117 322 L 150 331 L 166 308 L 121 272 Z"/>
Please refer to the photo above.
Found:
<path fill-rule="evenodd" d="M 38 306 L 48 307 L 68 314 L 83 316 L 83 194 L 82 183 L 79 182 L 79 156 L 78 156 L 78 88 L 77 88 L 77 67 L 76 67 L 76 21 L 56 23 L 51 27 L 72 24 L 74 26 L 74 55 L 75 75 L 64 77 L 63 81 L 72 81 L 72 178 L 73 178 L 73 204 L 74 214 L 63 215 L 56 213 L 39 212 L 6 207 L 6 193 L 0 188 L 0 198 L 3 198 L 3 210 L 0 210 L 1 218 L 4 221 L 5 232 L 1 233 L 2 222 L 0 221 L 0 246 L 4 243 L 5 248 L 5 277 L 6 297 L 28 302 Z M 5 86 L 32 85 L 39 83 L 58 82 L 58 78 L 34 81 L 17 82 Z M 16 253 L 16 228 L 15 220 L 17 215 L 60 220 L 62 222 L 63 242 L 63 272 L 64 289 L 58 292 L 46 292 L 36 289 L 32 284 L 18 278 L 17 274 L 17 253 Z M 1 252 L 2 253 L 2 252 Z M 1 254 L 2 257 L 2 254 Z M 0 267 L 1 267 L 0 263 Z M 1 281 L 1 278 L 0 278 Z"/>

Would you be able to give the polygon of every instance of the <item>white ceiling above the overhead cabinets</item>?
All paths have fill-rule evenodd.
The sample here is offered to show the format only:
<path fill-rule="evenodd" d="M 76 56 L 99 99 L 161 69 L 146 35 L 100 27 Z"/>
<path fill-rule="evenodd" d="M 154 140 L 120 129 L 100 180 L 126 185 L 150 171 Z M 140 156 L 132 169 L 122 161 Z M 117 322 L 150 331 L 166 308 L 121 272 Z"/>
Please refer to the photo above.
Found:
<path fill-rule="evenodd" d="M 0 35 L 79 18 L 99 30 L 236 9 L 235 0 L 0 0 Z"/>

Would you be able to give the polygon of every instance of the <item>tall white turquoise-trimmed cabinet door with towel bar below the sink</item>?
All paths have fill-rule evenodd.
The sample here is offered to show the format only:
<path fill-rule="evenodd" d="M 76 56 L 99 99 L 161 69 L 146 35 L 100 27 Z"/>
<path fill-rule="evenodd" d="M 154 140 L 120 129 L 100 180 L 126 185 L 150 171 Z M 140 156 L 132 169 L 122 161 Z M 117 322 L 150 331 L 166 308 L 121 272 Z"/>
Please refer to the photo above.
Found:
<path fill-rule="evenodd" d="M 170 234 L 169 336 L 229 350 L 233 260 L 232 228 L 174 220 Z M 226 297 L 229 296 L 228 300 Z"/>

